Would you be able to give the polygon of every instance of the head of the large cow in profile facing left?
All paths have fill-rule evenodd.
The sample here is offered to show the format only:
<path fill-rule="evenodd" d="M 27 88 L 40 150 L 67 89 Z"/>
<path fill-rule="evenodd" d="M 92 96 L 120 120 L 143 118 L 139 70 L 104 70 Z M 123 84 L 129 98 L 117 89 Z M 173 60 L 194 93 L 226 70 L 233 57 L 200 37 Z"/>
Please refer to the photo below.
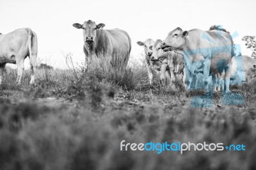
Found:
<path fill-rule="evenodd" d="M 168 33 L 168 36 L 161 43 L 161 49 L 164 51 L 182 49 L 182 47 L 185 45 L 185 39 L 188 34 L 188 31 L 182 31 L 180 27 L 177 27 Z"/>

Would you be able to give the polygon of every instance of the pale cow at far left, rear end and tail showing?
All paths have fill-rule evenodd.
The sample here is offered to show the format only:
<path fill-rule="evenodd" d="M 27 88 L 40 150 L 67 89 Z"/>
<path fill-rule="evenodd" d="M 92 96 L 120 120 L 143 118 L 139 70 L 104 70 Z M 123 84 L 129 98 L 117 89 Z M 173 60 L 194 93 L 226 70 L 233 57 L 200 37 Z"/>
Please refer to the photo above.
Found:
<path fill-rule="evenodd" d="M 30 28 L 21 28 L 0 35 L 0 84 L 3 81 L 6 63 L 17 64 L 17 85 L 20 85 L 24 70 L 24 59 L 29 56 L 31 66 L 30 84 L 35 82 L 37 36 Z"/>

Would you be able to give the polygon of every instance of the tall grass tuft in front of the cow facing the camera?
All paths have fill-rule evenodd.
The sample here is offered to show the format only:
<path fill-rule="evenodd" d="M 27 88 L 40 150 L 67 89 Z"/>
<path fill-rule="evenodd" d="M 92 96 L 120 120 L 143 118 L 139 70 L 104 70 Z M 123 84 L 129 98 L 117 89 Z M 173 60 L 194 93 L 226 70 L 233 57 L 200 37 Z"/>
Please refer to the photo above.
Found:
<path fill-rule="evenodd" d="M 147 70 L 136 64 L 128 67 L 124 54 L 93 55 L 88 64 L 87 74 L 97 77 L 99 81 L 108 81 L 127 90 L 147 84 Z"/>

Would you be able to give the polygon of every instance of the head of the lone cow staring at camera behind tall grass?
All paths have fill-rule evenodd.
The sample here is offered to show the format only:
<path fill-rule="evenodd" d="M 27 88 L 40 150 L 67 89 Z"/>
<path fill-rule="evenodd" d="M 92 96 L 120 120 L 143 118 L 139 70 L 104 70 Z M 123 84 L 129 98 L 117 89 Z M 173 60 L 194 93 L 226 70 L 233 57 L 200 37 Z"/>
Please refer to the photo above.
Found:
<path fill-rule="evenodd" d="M 105 24 L 95 24 L 92 20 L 85 21 L 84 24 L 73 24 L 77 29 L 83 29 L 84 43 L 90 45 L 95 42 L 96 30 L 105 26 Z"/>

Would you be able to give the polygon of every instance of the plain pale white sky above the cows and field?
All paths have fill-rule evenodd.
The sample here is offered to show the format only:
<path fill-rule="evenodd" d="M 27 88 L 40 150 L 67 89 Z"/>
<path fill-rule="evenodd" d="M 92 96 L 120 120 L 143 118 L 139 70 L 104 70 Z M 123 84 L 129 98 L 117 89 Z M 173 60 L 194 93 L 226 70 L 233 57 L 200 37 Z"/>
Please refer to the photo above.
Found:
<path fill-rule="evenodd" d="M 222 25 L 238 35 L 234 42 L 241 45 L 243 55 L 250 56 L 241 39 L 256 35 L 254 0 L 1 0 L 0 33 L 30 27 L 38 36 L 38 63 L 67 68 L 65 56 L 73 54 L 75 63 L 84 61 L 83 30 L 72 26 L 93 20 L 104 23 L 104 29 L 120 28 L 131 36 L 131 58 L 140 59 L 143 48 L 138 41 L 166 38 L 176 27 L 208 30 Z M 25 66 L 28 68 L 26 59 Z"/>

